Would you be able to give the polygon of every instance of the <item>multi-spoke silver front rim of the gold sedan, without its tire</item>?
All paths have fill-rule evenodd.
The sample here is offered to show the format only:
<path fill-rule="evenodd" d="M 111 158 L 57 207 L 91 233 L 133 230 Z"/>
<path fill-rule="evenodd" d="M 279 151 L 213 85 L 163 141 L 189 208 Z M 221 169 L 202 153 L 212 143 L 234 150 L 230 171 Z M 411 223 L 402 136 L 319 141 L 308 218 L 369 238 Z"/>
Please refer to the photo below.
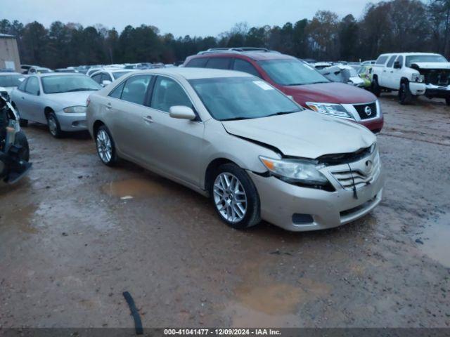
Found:
<path fill-rule="evenodd" d="M 236 176 L 220 173 L 214 181 L 213 194 L 217 211 L 225 220 L 231 223 L 243 220 L 247 213 L 247 194 Z"/>

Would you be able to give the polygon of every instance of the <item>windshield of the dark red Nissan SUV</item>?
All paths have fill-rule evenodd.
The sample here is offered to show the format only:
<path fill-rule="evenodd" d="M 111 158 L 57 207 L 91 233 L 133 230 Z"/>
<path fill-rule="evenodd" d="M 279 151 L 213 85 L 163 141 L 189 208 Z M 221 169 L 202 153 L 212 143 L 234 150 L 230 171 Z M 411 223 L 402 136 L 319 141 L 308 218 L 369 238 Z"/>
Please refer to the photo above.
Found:
<path fill-rule="evenodd" d="M 313 67 L 299 60 L 268 60 L 259 61 L 259 65 L 281 86 L 300 86 L 328 82 Z"/>

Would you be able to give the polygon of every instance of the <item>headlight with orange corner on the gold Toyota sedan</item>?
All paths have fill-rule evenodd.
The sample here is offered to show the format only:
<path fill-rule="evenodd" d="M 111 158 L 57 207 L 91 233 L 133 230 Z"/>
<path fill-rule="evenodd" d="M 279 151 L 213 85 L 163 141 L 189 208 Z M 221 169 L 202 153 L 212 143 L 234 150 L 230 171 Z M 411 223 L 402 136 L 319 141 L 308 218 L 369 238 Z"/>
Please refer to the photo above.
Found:
<path fill-rule="evenodd" d="M 319 172 L 317 162 L 306 159 L 271 159 L 259 156 L 262 164 L 287 183 L 327 185 L 328 179 Z"/>

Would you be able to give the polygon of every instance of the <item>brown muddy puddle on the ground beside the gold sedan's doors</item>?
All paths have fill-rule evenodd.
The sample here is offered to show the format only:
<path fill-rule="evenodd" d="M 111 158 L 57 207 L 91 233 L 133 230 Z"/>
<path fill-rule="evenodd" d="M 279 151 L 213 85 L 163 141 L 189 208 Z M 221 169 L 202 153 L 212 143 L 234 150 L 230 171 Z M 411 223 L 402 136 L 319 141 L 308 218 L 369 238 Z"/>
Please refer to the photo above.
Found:
<path fill-rule="evenodd" d="M 162 183 L 146 178 L 112 181 L 103 185 L 102 191 L 110 197 L 122 199 L 155 197 L 170 192 Z"/>

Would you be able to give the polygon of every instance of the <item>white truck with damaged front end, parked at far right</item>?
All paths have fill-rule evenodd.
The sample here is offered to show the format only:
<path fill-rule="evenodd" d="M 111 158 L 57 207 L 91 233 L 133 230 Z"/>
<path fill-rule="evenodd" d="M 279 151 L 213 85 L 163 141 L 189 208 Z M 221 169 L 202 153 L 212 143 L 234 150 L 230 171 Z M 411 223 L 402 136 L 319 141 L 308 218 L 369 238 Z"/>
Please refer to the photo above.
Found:
<path fill-rule="evenodd" d="M 399 91 L 401 104 L 418 95 L 444 98 L 450 105 L 450 62 L 432 53 L 390 53 L 378 57 L 373 66 L 372 90 Z"/>

